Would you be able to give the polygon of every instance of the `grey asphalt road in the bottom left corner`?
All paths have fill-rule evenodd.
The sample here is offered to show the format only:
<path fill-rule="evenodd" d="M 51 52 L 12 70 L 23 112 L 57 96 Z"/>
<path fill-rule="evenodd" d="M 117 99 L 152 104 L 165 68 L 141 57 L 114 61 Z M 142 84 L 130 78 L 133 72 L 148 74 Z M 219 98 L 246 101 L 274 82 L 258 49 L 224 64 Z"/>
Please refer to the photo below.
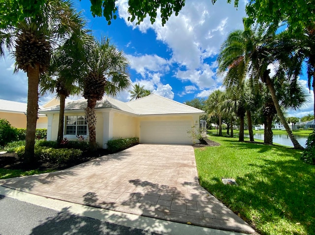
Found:
<path fill-rule="evenodd" d="M 0 195 L 0 235 L 158 235 Z"/>

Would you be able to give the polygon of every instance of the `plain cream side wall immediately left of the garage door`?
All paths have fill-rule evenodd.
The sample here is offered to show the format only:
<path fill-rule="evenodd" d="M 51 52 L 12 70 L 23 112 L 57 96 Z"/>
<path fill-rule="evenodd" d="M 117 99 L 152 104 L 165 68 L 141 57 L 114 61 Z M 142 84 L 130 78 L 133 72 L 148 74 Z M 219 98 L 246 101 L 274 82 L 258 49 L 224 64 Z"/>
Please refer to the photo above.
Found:
<path fill-rule="evenodd" d="M 113 118 L 113 139 L 131 138 L 136 136 L 137 118 L 115 113 Z"/>

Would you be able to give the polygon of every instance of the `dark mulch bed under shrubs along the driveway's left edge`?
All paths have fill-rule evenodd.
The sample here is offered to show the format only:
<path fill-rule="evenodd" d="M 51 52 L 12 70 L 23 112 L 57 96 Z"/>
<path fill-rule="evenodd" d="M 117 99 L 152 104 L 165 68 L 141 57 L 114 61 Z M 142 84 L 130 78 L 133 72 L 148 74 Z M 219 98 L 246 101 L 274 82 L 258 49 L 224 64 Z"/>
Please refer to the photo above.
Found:
<path fill-rule="evenodd" d="M 101 157 L 104 155 L 110 154 L 110 152 L 106 149 L 97 149 L 95 152 L 83 152 L 82 157 L 75 162 L 71 162 L 68 164 L 61 163 L 51 163 L 39 160 L 36 165 L 26 166 L 23 162 L 20 161 L 18 155 L 15 152 L 7 152 L 0 154 L 0 168 L 10 169 L 10 170 L 34 170 L 38 169 L 40 171 L 45 170 L 63 170 L 75 165 L 78 165 L 83 162 L 90 161 L 97 157 Z"/>

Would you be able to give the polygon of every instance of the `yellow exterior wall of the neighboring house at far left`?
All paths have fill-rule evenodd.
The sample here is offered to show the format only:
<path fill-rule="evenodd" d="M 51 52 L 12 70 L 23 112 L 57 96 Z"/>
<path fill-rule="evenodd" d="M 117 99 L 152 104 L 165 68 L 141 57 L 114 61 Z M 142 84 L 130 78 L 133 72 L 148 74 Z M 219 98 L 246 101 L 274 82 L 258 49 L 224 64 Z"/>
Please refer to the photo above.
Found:
<path fill-rule="evenodd" d="M 16 128 L 26 128 L 27 118 L 24 113 L 0 112 L 0 118 L 5 118 Z M 47 122 L 47 117 L 39 117 L 37 119 L 36 128 L 47 128 Z"/>

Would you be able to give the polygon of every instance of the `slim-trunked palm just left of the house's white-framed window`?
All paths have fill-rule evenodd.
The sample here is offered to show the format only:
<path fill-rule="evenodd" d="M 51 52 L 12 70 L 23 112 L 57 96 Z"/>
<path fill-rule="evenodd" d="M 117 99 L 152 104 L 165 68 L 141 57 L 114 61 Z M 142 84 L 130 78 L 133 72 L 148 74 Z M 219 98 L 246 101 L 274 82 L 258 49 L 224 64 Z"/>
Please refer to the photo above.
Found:
<path fill-rule="evenodd" d="M 78 29 L 54 52 L 49 73 L 40 82 L 41 94 L 56 92 L 60 99 L 58 145 L 63 140 L 65 99 L 81 92 L 78 86 L 78 81 L 83 76 L 81 65 L 86 63 L 85 52 L 93 42 L 92 37 L 87 34 L 89 30 L 84 29 L 85 22 L 81 15 L 77 14 L 76 17 Z"/>

